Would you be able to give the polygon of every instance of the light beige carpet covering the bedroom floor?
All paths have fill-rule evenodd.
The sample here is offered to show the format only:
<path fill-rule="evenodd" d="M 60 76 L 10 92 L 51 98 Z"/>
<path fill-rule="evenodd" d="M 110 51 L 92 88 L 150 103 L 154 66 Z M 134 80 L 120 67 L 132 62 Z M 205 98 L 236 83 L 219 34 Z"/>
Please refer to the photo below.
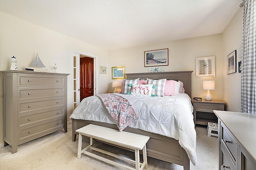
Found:
<path fill-rule="evenodd" d="M 78 140 L 72 142 L 72 126 L 68 132 L 58 131 L 33 141 L 18 145 L 18 152 L 12 154 L 12 147 L 0 148 L 0 170 L 121 170 L 111 164 L 82 154 L 77 158 Z M 197 164 L 190 163 L 190 170 L 218 169 L 218 138 L 207 136 L 206 126 L 196 126 Z M 82 147 L 90 144 L 83 138 Z M 96 147 L 134 159 L 134 152 L 95 142 Z M 94 151 L 92 151 L 94 152 Z M 94 152 L 95 153 L 95 152 Z M 99 155 L 101 155 L 99 153 Z M 116 162 L 133 166 L 122 160 L 105 156 Z M 142 159 L 142 155 L 140 155 Z M 135 166 L 134 166 L 135 167 Z M 148 170 L 183 170 L 183 166 L 148 157 Z"/>

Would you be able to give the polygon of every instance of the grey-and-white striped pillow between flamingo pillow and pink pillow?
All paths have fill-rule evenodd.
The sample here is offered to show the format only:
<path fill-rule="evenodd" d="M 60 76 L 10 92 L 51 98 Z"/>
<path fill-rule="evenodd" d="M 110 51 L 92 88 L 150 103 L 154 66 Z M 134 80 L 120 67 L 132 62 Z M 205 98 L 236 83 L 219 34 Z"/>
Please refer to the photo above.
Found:
<path fill-rule="evenodd" d="M 164 85 L 165 85 L 166 79 L 160 79 L 160 80 L 151 80 L 147 78 L 148 84 L 154 84 L 156 88 L 152 90 L 152 95 L 155 96 L 164 96 Z"/>

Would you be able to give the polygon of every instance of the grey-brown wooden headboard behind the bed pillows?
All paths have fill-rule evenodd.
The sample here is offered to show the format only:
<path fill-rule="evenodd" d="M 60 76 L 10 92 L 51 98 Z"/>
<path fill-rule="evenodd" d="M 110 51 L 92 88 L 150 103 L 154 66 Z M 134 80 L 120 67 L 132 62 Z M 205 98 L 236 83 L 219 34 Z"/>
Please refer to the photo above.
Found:
<path fill-rule="evenodd" d="M 191 73 L 193 71 L 174 71 L 174 72 L 144 72 L 144 73 L 128 73 L 125 74 L 126 79 L 136 79 L 147 80 L 150 78 L 162 79 L 166 78 L 167 80 L 180 80 L 184 84 L 185 93 L 188 94 L 191 98 Z"/>

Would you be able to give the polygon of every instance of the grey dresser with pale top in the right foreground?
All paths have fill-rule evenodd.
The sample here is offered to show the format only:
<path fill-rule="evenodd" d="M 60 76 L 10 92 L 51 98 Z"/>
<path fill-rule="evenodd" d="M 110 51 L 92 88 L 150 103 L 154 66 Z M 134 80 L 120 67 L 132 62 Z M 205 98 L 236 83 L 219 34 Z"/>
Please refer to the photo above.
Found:
<path fill-rule="evenodd" d="M 256 114 L 214 113 L 219 120 L 219 170 L 256 170 Z"/>

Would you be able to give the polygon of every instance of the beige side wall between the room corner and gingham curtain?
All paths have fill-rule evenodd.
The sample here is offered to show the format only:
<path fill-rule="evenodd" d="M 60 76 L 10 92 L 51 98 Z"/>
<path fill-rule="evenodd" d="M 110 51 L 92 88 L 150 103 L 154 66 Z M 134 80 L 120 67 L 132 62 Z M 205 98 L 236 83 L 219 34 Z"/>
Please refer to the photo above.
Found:
<path fill-rule="evenodd" d="M 242 58 L 238 57 L 239 48 L 242 46 L 242 22 L 243 22 L 243 10 L 240 8 L 236 15 L 232 18 L 224 32 L 223 38 L 223 100 L 227 103 L 226 110 L 228 111 L 241 111 L 241 73 L 227 74 L 226 73 L 226 57 L 232 51 L 237 52 L 237 62 Z"/>

